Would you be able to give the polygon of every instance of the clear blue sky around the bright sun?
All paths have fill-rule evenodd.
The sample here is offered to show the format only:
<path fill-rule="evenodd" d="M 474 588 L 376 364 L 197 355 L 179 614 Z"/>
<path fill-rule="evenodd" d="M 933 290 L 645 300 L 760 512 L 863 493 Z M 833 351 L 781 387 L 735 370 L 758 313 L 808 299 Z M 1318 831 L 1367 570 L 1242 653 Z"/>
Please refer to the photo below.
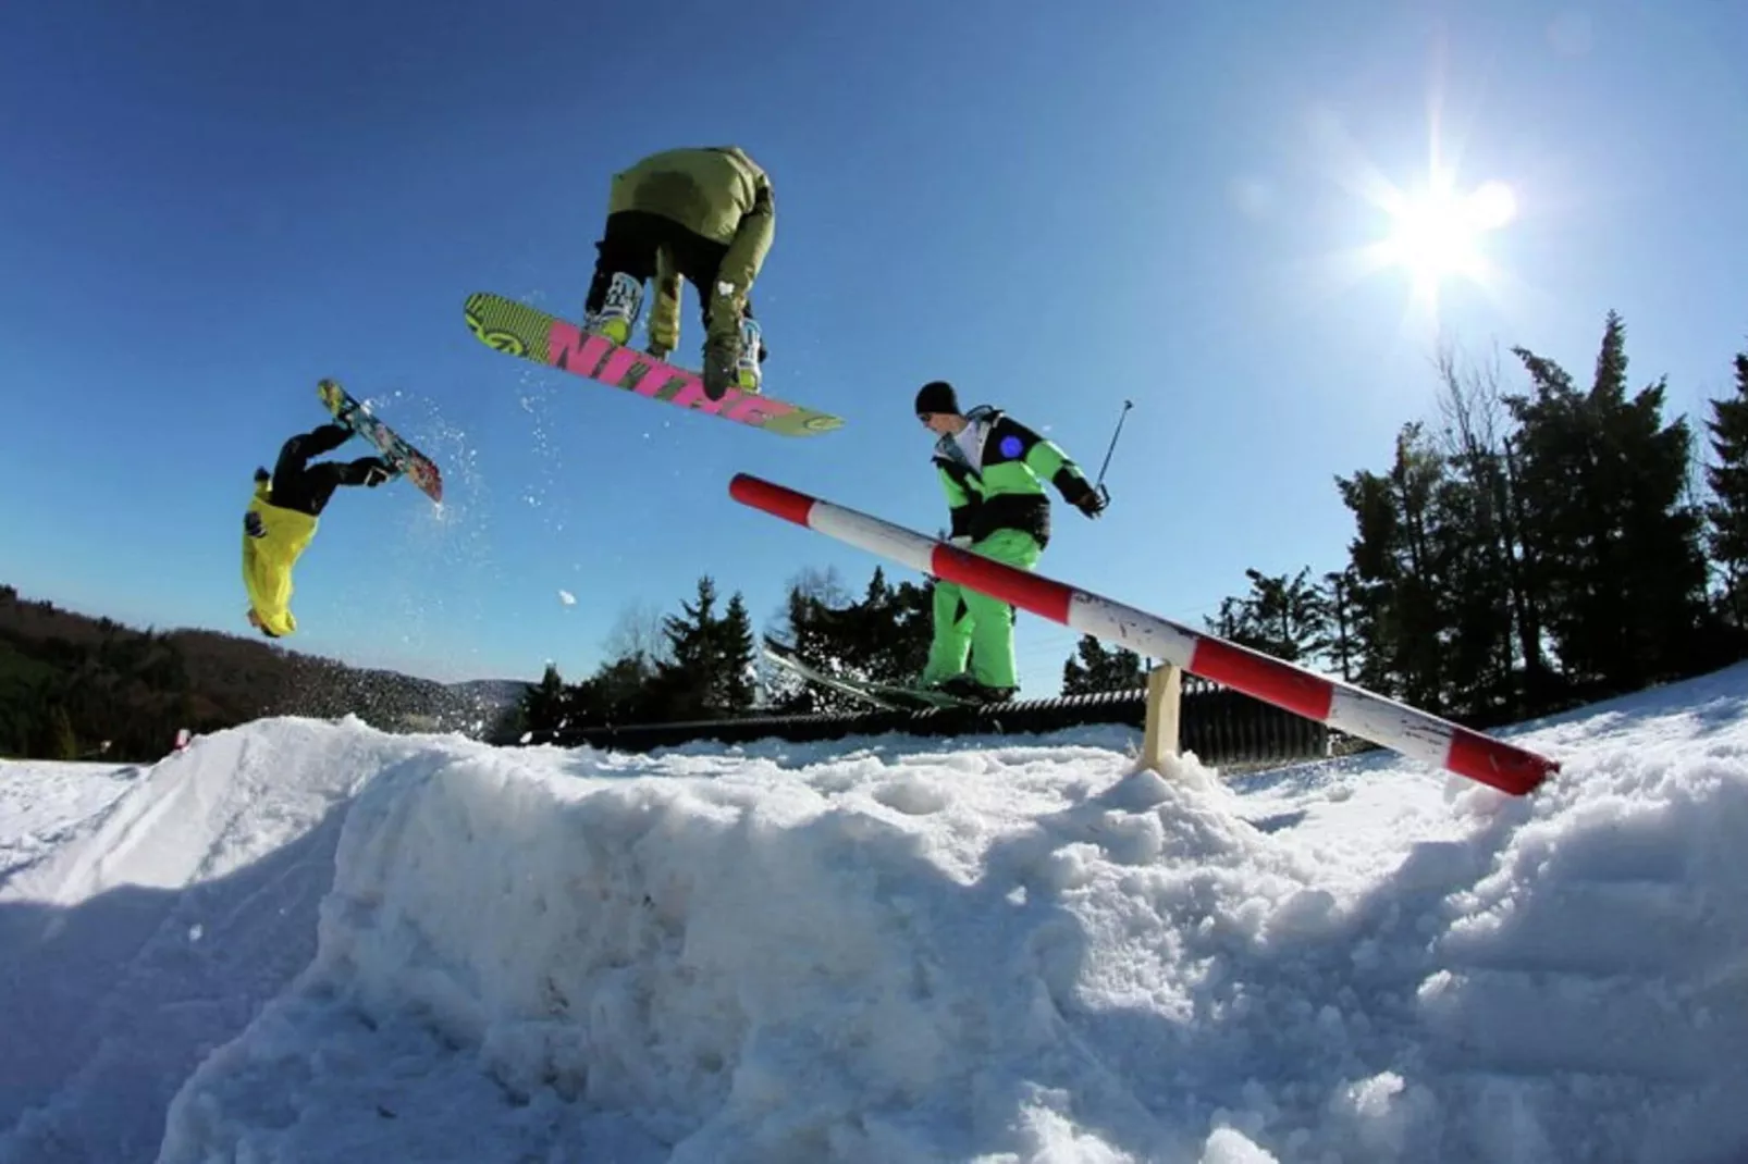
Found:
<path fill-rule="evenodd" d="M 288 645 L 434 678 L 580 678 L 701 573 L 760 624 L 876 559 L 727 496 L 752 472 L 932 531 L 932 378 L 1096 472 L 1040 572 L 1194 626 L 1243 572 L 1337 568 L 1334 477 L 1433 414 L 1430 316 L 1363 175 L 1510 189 L 1444 334 L 1699 412 L 1748 346 L 1743 3 L 28 5 L 0 35 L 0 580 L 133 624 L 248 633 L 250 472 L 322 376 L 442 465 L 343 493 Z M 738 143 L 776 184 L 783 440 L 477 344 L 472 290 L 577 316 L 614 170 Z M 696 365 L 687 292 L 682 355 Z M 1507 357 L 1509 358 L 1509 357 Z M 1510 364 L 1509 383 L 1521 385 Z M 364 446 L 344 454 L 360 456 Z M 900 575 L 898 577 L 905 577 Z M 561 598 L 573 596 L 573 603 Z M 1075 636 L 1021 617 L 1028 692 Z"/>

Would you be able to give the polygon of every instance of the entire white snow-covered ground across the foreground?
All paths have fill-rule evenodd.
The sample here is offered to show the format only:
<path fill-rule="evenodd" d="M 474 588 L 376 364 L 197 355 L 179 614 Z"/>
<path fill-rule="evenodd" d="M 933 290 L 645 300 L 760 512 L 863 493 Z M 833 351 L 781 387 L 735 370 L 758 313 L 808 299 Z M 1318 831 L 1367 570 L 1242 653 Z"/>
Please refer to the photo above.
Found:
<path fill-rule="evenodd" d="M 1523 799 L 1120 729 L 0 764 L 0 1161 L 1745 1159 L 1745 713 L 1526 725 Z"/>

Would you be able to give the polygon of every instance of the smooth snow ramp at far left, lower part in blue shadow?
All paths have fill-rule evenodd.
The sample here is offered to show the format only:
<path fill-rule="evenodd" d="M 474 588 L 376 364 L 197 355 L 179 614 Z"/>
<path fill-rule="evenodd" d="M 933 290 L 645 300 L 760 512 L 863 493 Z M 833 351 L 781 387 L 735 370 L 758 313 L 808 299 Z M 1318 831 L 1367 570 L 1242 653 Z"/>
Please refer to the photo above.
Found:
<path fill-rule="evenodd" d="M 285 720 L 149 771 L 0 766 L 0 849 L 37 841 L 0 881 L 0 1162 L 152 1159 L 177 1087 L 315 956 L 351 793 L 413 752 Z"/>

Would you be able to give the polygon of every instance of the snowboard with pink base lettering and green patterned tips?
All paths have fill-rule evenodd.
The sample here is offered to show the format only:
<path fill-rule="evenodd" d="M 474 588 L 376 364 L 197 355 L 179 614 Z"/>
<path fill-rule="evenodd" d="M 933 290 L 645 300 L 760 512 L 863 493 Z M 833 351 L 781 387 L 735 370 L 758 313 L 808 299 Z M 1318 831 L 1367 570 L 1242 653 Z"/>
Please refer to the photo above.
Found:
<path fill-rule="evenodd" d="M 591 336 L 568 320 L 503 295 L 475 292 L 467 297 L 463 315 L 474 337 L 493 351 L 556 367 L 690 412 L 704 412 L 780 437 L 816 437 L 844 425 L 841 416 L 741 388 L 729 388 L 720 400 L 711 400 L 704 395 L 704 381 L 697 372 L 657 360 L 647 351 L 615 344 L 607 336 Z"/>

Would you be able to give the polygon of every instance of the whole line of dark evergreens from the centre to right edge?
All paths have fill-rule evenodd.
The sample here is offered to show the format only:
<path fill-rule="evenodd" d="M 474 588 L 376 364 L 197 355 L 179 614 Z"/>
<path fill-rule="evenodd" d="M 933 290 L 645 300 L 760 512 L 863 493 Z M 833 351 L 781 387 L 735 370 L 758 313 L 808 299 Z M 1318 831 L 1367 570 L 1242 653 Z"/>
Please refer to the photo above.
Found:
<path fill-rule="evenodd" d="M 1545 357 L 1512 355 L 1524 391 L 1505 391 L 1496 364 L 1440 353 L 1439 421 L 1404 425 L 1383 472 L 1335 477 L 1355 521 L 1346 565 L 1246 570 L 1248 592 L 1208 631 L 1477 725 L 1748 654 L 1748 353 L 1734 393 L 1710 402 L 1704 463 L 1687 419 L 1664 418 L 1666 381 L 1629 388 L 1619 315 L 1584 388 Z M 876 568 L 853 598 L 804 572 L 769 634 L 816 668 L 905 683 L 928 655 L 930 592 Z M 717 605 L 704 577 L 678 615 L 622 622 L 587 680 L 547 668 L 514 727 L 865 710 L 769 666 L 739 594 Z M 1063 690 L 1136 689 L 1150 662 L 1082 636 Z"/>

